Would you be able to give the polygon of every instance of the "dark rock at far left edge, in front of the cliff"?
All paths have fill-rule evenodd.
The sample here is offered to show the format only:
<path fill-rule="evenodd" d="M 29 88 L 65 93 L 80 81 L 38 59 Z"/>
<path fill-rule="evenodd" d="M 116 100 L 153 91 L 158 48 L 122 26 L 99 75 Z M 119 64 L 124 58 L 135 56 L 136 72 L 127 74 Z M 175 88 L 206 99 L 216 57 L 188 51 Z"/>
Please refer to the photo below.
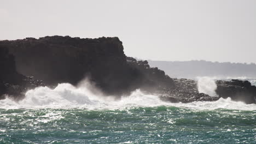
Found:
<path fill-rule="evenodd" d="M 21 99 L 28 89 L 44 86 L 42 81 L 19 74 L 15 68 L 14 56 L 2 46 L 0 46 L 0 68 L 0 99 L 4 99 L 5 95 Z"/>

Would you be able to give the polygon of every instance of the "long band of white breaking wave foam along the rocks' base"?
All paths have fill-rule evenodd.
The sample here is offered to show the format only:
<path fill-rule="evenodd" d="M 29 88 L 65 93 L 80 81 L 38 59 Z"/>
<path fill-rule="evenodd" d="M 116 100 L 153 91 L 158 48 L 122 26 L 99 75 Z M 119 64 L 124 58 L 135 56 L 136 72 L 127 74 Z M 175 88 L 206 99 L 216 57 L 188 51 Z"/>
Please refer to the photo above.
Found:
<path fill-rule="evenodd" d="M 74 87 L 61 83 L 56 88 L 37 87 L 26 92 L 25 98 L 14 101 L 11 98 L 0 100 L 0 109 L 130 109 L 131 107 L 175 106 L 193 110 L 256 110 L 256 104 L 245 104 L 220 98 L 217 101 L 195 101 L 193 103 L 168 103 L 158 95 L 144 94 L 139 89 L 127 97 L 116 99 L 92 92 L 85 86 Z"/>

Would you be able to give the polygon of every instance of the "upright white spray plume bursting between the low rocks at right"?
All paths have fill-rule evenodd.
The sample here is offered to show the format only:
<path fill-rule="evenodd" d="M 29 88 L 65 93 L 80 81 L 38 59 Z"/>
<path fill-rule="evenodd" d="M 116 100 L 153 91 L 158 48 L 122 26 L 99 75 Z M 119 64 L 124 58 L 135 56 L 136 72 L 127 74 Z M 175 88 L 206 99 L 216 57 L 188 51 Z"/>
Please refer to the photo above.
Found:
<path fill-rule="evenodd" d="M 211 97 L 218 97 L 215 90 L 217 85 L 212 77 L 197 77 L 197 88 L 200 93 L 205 93 Z"/>

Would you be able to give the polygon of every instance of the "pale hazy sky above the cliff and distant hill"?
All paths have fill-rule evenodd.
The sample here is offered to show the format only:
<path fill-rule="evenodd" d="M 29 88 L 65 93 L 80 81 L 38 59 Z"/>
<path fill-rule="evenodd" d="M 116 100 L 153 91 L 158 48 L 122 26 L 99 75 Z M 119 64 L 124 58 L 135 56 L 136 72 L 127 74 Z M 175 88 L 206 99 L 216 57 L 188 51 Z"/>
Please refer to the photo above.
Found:
<path fill-rule="evenodd" d="M 127 56 L 256 63 L 256 1 L 0 0 L 0 39 L 119 37 Z"/>

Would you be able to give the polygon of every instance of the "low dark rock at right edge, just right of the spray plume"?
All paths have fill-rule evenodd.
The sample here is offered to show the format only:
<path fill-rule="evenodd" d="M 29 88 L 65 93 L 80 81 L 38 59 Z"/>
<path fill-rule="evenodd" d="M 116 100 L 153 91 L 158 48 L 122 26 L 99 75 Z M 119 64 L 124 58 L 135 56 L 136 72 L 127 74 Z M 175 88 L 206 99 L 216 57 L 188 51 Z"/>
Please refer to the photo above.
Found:
<path fill-rule="evenodd" d="M 232 100 L 244 101 L 246 104 L 256 103 L 256 87 L 249 81 L 216 81 L 216 84 L 216 93 L 219 97 L 230 97 Z"/>

